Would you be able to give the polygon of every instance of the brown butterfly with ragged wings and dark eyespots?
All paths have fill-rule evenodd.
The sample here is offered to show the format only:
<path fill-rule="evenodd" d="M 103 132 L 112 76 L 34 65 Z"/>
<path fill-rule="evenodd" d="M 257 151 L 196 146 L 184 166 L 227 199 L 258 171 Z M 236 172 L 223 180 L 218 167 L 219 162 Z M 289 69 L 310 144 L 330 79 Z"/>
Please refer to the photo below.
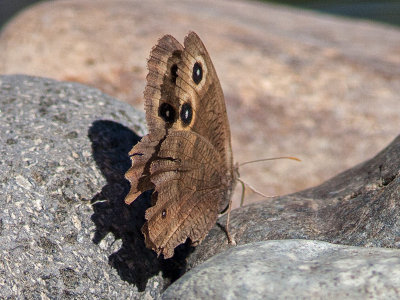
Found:
<path fill-rule="evenodd" d="M 165 35 L 153 47 L 144 91 L 149 134 L 129 155 L 125 202 L 154 189 L 145 243 L 170 258 L 189 238 L 200 243 L 230 203 L 237 179 L 225 100 L 196 33 L 182 46 Z"/>

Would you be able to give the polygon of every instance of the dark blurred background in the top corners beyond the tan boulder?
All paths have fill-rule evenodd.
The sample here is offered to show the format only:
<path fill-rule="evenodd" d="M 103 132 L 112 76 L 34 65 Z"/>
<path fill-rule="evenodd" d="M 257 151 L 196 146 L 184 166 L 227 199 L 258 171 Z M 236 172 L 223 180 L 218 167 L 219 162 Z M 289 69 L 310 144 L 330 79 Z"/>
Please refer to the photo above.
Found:
<path fill-rule="evenodd" d="M 0 0 L 0 29 L 19 10 L 44 0 Z M 51 0 L 56 1 L 56 0 Z M 250 1 L 250 0 L 249 0 Z M 251 0 L 253 1 L 253 0 Z M 399 0 L 261 0 L 400 26 Z"/>

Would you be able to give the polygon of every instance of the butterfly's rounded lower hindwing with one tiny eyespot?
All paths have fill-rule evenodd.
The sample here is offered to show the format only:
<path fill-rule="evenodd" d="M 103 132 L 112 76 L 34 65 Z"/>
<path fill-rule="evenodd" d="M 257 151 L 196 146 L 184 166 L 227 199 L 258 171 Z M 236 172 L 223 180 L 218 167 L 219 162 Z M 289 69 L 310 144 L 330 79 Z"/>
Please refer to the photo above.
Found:
<path fill-rule="evenodd" d="M 219 212 L 215 200 L 223 196 L 227 181 L 218 167 L 220 156 L 197 133 L 172 131 L 156 147 L 152 142 L 157 138 L 152 138 L 151 134 L 144 137 L 132 153 L 138 165 L 147 164 L 144 176 L 155 189 L 154 205 L 146 211 L 142 231 L 147 247 L 169 258 L 177 245 L 187 238 L 193 243 L 201 241 L 215 224 Z M 150 163 L 144 153 L 153 153 Z"/>

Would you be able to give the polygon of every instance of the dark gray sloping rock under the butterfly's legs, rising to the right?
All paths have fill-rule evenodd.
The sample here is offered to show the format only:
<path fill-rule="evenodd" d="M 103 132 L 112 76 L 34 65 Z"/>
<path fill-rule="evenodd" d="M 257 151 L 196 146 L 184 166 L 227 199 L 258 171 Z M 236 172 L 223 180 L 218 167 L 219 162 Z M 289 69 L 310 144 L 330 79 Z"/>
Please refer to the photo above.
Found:
<path fill-rule="evenodd" d="M 237 244 L 313 239 L 337 244 L 400 248 L 400 136 L 374 158 L 325 183 L 232 211 Z M 226 216 L 219 220 L 225 224 Z M 191 268 L 226 250 L 217 227 L 189 257 Z"/>

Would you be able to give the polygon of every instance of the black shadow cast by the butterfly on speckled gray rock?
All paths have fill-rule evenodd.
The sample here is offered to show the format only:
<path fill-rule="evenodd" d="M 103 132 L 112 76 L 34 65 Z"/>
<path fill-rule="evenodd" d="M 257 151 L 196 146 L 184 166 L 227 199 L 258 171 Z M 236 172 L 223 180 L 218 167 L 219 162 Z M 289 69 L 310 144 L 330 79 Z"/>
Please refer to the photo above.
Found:
<path fill-rule="evenodd" d="M 95 121 L 88 136 L 93 157 L 107 180 L 101 192 L 91 200 L 92 221 L 96 225 L 93 242 L 100 243 L 108 233 L 122 240 L 121 248 L 109 256 L 109 263 L 122 280 L 135 284 L 139 291 L 143 291 L 148 279 L 159 271 L 163 272 L 168 285 L 180 277 L 191 249 L 187 243 L 176 249 L 173 258 L 157 258 L 145 247 L 141 233 L 145 211 L 150 207 L 151 191 L 143 193 L 131 205 L 124 202 L 129 191 L 129 182 L 124 177 L 131 166 L 128 152 L 140 137 L 119 123 L 105 120 Z"/>

